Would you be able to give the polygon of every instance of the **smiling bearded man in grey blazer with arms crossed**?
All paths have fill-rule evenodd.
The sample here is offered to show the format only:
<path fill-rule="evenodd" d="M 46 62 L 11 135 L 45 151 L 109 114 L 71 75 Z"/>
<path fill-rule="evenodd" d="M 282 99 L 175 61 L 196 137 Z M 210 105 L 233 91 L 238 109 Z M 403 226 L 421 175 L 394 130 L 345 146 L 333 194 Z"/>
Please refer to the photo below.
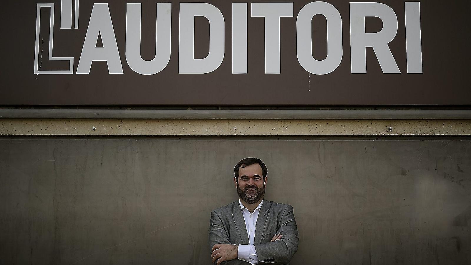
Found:
<path fill-rule="evenodd" d="M 211 212 L 209 244 L 214 264 L 289 264 L 298 230 L 289 204 L 264 200 L 267 166 L 244 158 L 234 167 L 239 200 Z"/>

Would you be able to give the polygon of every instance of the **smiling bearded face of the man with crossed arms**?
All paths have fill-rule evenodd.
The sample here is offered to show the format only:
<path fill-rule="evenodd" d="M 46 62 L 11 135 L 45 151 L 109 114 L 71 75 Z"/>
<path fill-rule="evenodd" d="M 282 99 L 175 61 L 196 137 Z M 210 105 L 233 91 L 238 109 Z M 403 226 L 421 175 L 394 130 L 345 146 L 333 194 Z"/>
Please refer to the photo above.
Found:
<path fill-rule="evenodd" d="M 263 180 L 262 168 L 259 164 L 253 164 L 239 168 L 238 183 L 234 178 L 237 187 L 237 194 L 246 203 L 253 204 L 265 195 L 265 184 Z"/>

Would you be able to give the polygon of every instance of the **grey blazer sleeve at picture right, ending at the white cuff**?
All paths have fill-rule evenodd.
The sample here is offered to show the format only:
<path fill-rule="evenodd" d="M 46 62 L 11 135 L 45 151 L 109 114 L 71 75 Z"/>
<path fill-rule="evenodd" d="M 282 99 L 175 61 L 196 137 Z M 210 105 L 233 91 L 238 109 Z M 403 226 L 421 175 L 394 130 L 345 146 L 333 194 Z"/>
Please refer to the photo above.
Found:
<path fill-rule="evenodd" d="M 284 209 L 280 224 L 276 231 L 282 235 L 280 240 L 255 245 L 260 263 L 289 263 L 298 250 L 298 228 L 291 205 Z"/>

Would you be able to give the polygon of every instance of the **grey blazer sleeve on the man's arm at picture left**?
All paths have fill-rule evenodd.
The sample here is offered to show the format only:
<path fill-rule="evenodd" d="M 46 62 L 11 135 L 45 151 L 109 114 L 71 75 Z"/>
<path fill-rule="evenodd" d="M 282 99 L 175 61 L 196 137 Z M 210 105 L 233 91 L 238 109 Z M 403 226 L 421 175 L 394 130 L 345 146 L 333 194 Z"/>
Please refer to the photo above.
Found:
<path fill-rule="evenodd" d="M 216 244 L 232 244 L 229 241 L 229 235 L 222 224 L 222 220 L 215 211 L 211 212 L 211 221 L 209 223 L 209 250 L 210 250 L 210 257 L 211 257 L 211 249 Z M 216 264 L 216 262 L 214 262 Z M 221 265 L 251 265 L 250 263 L 240 260 L 240 259 L 232 259 L 223 261 Z"/>

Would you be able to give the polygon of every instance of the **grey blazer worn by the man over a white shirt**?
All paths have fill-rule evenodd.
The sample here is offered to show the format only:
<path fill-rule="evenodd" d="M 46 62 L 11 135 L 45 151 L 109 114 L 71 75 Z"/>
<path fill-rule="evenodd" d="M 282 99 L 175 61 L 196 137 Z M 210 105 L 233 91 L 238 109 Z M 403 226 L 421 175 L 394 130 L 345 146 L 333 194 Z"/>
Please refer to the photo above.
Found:
<path fill-rule="evenodd" d="M 270 242 L 278 233 L 282 234 L 282 238 Z M 254 238 L 255 251 L 257 251 L 260 264 L 289 264 L 298 250 L 298 241 L 293 207 L 264 199 L 255 225 Z M 249 236 L 238 200 L 211 212 L 210 250 L 216 244 L 249 244 Z M 233 259 L 222 264 L 247 265 L 250 263 Z"/>

